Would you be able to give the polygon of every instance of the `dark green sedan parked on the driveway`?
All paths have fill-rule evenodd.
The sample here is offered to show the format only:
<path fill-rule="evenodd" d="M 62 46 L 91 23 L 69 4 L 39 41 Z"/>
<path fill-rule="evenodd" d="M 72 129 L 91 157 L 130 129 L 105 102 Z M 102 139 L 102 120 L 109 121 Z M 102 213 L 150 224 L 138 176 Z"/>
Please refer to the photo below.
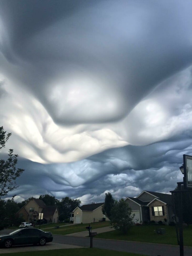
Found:
<path fill-rule="evenodd" d="M 52 241 L 53 235 L 51 232 L 44 232 L 37 228 L 17 229 L 8 235 L 0 235 L 0 245 L 5 248 L 20 244 L 45 245 Z"/>

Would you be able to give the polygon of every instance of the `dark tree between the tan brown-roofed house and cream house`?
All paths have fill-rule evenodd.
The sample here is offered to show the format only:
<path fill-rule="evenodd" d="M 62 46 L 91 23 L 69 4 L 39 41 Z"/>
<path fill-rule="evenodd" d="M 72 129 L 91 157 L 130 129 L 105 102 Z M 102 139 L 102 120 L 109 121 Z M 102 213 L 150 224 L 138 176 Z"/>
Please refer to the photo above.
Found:
<path fill-rule="evenodd" d="M 64 197 L 58 203 L 59 208 L 59 220 L 63 221 L 70 217 L 70 213 L 77 207 L 80 206 L 81 201 L 79 199 L 72 199 L 69 197 Z"/>

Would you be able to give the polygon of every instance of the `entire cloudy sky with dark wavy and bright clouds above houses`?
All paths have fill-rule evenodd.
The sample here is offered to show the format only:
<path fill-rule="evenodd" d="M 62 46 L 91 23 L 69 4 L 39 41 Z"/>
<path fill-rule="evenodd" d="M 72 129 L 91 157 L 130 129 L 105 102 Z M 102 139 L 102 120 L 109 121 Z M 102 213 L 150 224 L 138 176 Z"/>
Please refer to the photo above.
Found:
<path fill-rule="evenodd" d="M 22 201 L 169 193 L 192 155 L 192 2 L 0 0 L 1 151 Z"/>

